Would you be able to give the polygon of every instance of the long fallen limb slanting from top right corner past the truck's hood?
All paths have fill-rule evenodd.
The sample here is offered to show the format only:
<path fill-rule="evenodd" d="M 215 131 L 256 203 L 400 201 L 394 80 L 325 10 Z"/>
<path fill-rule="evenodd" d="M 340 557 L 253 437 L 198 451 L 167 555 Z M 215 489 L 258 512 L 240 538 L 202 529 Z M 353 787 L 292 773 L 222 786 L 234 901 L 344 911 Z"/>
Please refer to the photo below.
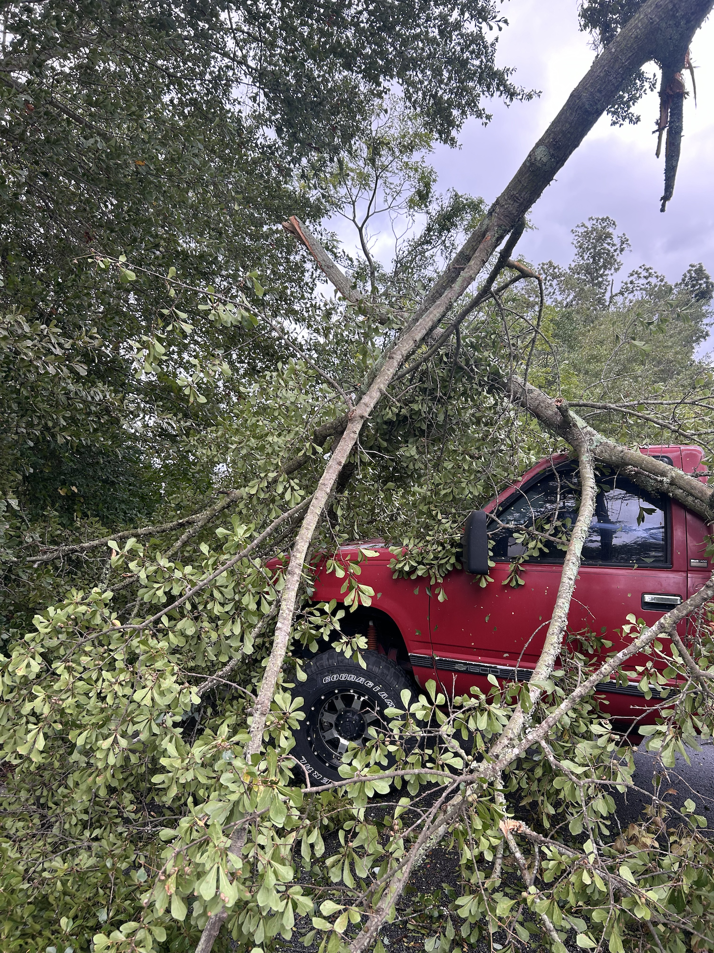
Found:
<path fill-rule="evenodd" d="M 712 6 L 714 0 L 647 0 L 625 29 L 595 60 L 482 223 L 426 295 L 425 301 L 394 345 L 375 363 L 367 379 L 364 395 L 354 411 L 347 415 L 345 432 L 327 463 L 290 554 L 273 647 L 254 707 L 247 757 L 259 752 L 263 744 L 270 701 L 288 649 L 292 617 L 310 540 L 368 416 L 386 394 L 407 358 L 466 292 L 506 235 L 519 227 L 530 207 L 563 168 L 585 134 L 592 129 L 633 73 L 650 59 L 662 61 L 665 58 L 663 44 L 669 49 L 669 45 L 677 45 L 684 40 L 686 49 Z M 405 882 L 400 883 L 401 893 Z M 226 916 L 225 906 L 213 914 L 196 947 L 198 953 L 208 953 Z M 375 934 L 369 927 L 366 927 L 366 931 L 373 939 Z M 352 943 L 355 953 L 371 942 L 371 939 L 366 941 L 364 935 L 365 931 Z"/>

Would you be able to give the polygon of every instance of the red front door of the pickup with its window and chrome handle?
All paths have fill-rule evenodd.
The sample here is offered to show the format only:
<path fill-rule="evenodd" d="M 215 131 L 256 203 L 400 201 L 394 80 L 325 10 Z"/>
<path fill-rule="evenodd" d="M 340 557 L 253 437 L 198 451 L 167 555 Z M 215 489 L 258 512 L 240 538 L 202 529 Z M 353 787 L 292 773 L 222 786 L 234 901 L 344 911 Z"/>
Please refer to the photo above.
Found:
<path fill-rule="evenodd" d="M 684 510 L 654 497 L 624 477 L 603 471 L 583 565 L 568 617 L 571 637 L 595 635 L 613 642 L 628 614 L 652 624 L 686 592 Z M 445 601 L 432 595 L 431 644 L 444 688 L 464 694 L 486 676 L 526 680 L 543 648 L 560 583 L 564 549 L 577 515 L 579 485 L 572 465 L 538 476 L 502 504 L 491 532 L 492 582 L 453 572 Z M 541 534 L 543 548 L 523 566 L 523 584 L 510 585 L 512 560 L 525 552 L 526 534 Z M 514 581 L 511 579 L 511 581 Z M 514 674 L 513 669 L 517 672 Z M 610 714 L 628 714 L 611 701 Z M 634 689 L 630 694 L 637 695 Z M 620 712 L 619 707 L 623 707 Z"/>

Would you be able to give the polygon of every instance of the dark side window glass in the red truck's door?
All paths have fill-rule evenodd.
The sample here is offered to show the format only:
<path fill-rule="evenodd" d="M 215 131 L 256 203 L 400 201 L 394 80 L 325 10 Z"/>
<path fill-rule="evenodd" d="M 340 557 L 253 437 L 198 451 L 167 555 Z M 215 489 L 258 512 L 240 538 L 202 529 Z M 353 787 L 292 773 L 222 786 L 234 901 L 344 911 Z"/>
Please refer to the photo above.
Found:
<path fill-rule="evenodd" d="M 549 473 L 498 513 L 503 527 L 492 526 L 493 558 L 526 553 L 529 540 L 542 536 L 530 562 L 563 562 L 565 545 L 578 515 L 577 472 Z M 583 562 L 590 565 L 667 564 L 666 502 L 621 476 L 598 476 L 598 496 Z M 550 537 L 549 539 L 546 537 Z M 561 540 L 560 542 L 558 540 Z"/>

